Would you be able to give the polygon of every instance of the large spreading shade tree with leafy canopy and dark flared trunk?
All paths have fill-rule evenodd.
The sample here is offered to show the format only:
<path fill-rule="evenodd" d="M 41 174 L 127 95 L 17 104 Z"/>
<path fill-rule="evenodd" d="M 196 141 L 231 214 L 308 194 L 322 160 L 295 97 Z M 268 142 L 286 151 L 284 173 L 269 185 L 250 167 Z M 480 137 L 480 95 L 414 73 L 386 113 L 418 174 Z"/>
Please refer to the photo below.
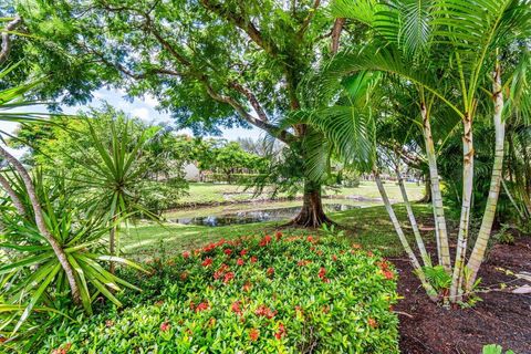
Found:
<path fill-rule="evenodd" d="M 304 124 L 275 122 L 301 108 L 304 75 L 337 50 L 343 21 L 327 1 L 23 1 L 15 11 L 32 34 L 20 52 L 53 80 L 42 92 L 83 102 L 105 84 L 150 94 L 179 126 L 219 133 L 254 126 L 308 152 Z M 362 39 L 356 33 L 351 43 Z M 35 40 L 40 39 L 40 40 Z M 33 53 L 39 53 L 34 55 Z M 301 165 L 302 168 L 302 165 Z M 304 184 L 294 223 L 327 222 L 321 185 Z"/>

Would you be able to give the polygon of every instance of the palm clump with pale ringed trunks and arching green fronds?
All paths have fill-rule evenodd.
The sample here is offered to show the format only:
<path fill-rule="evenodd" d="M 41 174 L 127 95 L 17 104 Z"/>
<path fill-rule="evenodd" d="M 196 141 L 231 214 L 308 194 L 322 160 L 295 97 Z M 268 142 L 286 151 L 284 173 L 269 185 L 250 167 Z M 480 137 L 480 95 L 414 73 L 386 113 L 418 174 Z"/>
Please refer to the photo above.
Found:
<path fill-rule="evenodd" d="M 350 77 L 353 73 L 369 71 L 384 73 L 384 79 L 398 80 L 405 85 L 415 87 L 417 92 L 419 111 L 417 122 L 420 123 L 425 138 L 430 171 L 439 264 L 448 274 L 451 273 L 449 300 L 452 302 L 461 299 L 465 288 L 470 291 L 476 283 L 486 240 L 490 236 L 502 177 L 500 167 L 504 143 L 503 105 L 507 102 L 502 88 L 514 77 L 512 72 L 502 71 L 504 63 L 500 60 L 499 53 L 514 45 L 519 39 L 529 35 L 530 8 L 525 0 L 420 2 L 336 0 L 334 4 L 334 14 L 337 18 L 365 23 L 372 29 L 373 39 L 361 52 L 346 51 L 336 55 L 325 70 L 327 79 L 324 79 L 324 84 L 333 87 L 331 83 L 333 84 L 337 77 Z M 481 14 L 479 19 L 478 13 Z M 493 105 L 490 104 L 492 98 Z M 436 119 L 458 117 L 462 127 L 464 188 L 454 267 L 449 256 L 448 232 L 431 133 L 433 113 L 440 111 L 441 105 L 446 106 L 450 114 L 435 116 Z M 374 108 L 376 110 L 377 105 Z M 491 192 L 466 272 L 473 187 L 472 121 L 488 116 L 492 117 L 497 132 Z M 321 122 L 323 131 L 337 131 L 340 126 L 339 119 Z M 344 146 L 354 145 L 352 139 L 357 136 L 333 133 L 329 133 L 329 136 L 335 136 L 334 144 L 345 158 L 352 154 L 352 147 L 345 149 Z M 355 144 L 358 145 L 360 142 Z M 393 219 L 393 216 L 391 217 Z"/>

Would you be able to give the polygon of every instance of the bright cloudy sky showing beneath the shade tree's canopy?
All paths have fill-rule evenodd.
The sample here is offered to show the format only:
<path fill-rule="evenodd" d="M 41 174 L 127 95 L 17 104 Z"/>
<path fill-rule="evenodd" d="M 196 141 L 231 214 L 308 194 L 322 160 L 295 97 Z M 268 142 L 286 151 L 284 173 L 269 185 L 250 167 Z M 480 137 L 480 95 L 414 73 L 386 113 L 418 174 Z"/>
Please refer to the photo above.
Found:
<path fill-rule="evenodd" d="M 100 106 L 102 102 L 107 102 L 111 105 L 113 105 L 115 108 L 122 110 L 126 114 L 131 116 L 136 116 L 148 123 L 160 123 L 160 122 L 171 123 L 171 118 L 169 114 L 164 112 L 158 112 L 156 110 L 158 102 L 153 96 L 146 96 L 143 100 L 135 98 L 133 100 L 133 102 L 131 102 L 131 100 L 125 98 L 125 92 L 121 90 L 114 90 L 114 88 L 101 88 L 94 92 L 93 95 L 94 95 L 94 100 L 92 101 L 90 106 Z M 84 107 L 86 106 L 77 105 L 72 107 L 63 107 L 63 111 L 66 114 L 75 114 L 80 110 L 83 110 Z M 30 111 L 29 107 L 27 107 L 25 110 Z M 44 111 L 45 111 L 44 107 L 35 106 L 31 108 L 31 112 L 44 112 Z M 17 128 L 17 124 L 0 121 L 0 131 L 12 133 L 15 128 Z M 251 128 L 251 129 L 223 128 L 221 131 L 222 131 L 222 137 L 228 140 L 236 140 L 237 138 L 244 138 L 244 137 L 251 137 L 253 139 L 257 139 L 264 136 L 262 131 L 260 131 L 259 128 Z M 183 129 L 181 133 L 191 135 L 191 131 L 189 129 Z M 13 149 L 10 149 L 10 152 L 17 156 L 20 156 L 23 153 L 23 152 L 17 152 Z"/>

